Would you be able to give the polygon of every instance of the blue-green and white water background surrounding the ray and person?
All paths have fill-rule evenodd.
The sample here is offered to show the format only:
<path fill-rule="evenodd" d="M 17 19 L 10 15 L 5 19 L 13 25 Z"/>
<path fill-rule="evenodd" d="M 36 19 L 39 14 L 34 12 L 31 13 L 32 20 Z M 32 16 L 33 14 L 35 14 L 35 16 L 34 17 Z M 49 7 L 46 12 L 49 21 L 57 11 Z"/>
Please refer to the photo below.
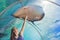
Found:
<path fill-rule="evenodd" d="M 50 1 L 60 4 L 59 0 Z M 34 25 L 31 25 L 31 22 L 26 22 L 24 39 L 60 40 L 60 6 L 46 0 L 0 0 L 0 18 L 3 18 L 3 20 L 0 19 L 0 40 L 10 40 L 12 27 L 17 27 L 20 31 L 24 21 L 11 16 L 11 14 L 26 5 L 41 6 L 45 16 L 42 20 L 34 22 L 40 29 L 38 29 L 40 35 L 33 28 Z"/>

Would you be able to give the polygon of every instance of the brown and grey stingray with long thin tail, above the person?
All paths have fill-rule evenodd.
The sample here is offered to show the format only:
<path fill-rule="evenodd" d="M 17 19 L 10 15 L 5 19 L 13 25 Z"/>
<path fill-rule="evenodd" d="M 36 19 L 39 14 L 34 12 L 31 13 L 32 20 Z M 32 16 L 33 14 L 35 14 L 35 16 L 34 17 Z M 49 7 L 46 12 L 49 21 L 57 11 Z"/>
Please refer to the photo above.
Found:
<path fill-rule="evenodd" d="M 35 21 L 40 21 L 44 17 L 44 11 L 43 11 L 42 7 L 40 7 L 40 6 L 28 5 L 28 6 L 25 6 L 25 7 L 22 7 L 21 9 L 19 9 L 15 14 L 13 14 L 13 16 L 15 18 L 23 18 L 23 19 L 25 19 L 25 17 L 27 16 L 27 21 L 29 21 L 33 25 L 35 25 L 35 23 L 34 23 Z M 31 23 L 29 23 L 29 24 L 31 24 Z M 35 25 L 35 26 L 37 28 L 35 28 L 34 26 L 33 27 L 37 30 L 37 32 L 41 36 L 41 33 L 38 31 L 39 27 L 37 25 Z"/>

